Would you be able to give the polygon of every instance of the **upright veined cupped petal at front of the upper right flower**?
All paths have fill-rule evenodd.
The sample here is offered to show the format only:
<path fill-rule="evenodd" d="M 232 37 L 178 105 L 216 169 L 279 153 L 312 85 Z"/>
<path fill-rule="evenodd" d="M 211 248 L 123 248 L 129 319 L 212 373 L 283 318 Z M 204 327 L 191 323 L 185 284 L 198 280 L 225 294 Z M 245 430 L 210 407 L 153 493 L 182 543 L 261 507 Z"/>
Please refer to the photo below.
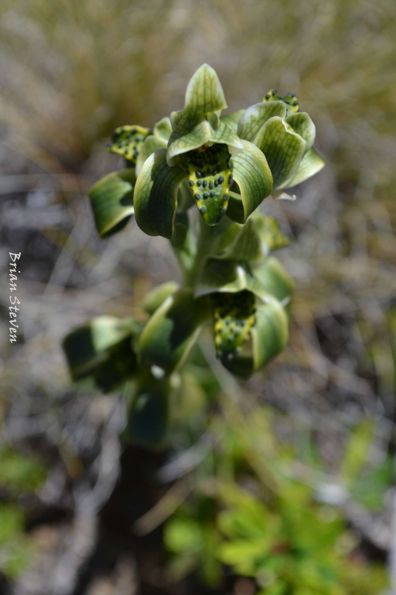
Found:
<path fill-rule="evenodd" d="M 305 140 L 282 118 L 268 120 L 258 131 L 255 145 L 264 153 L 274 179 L 274 190 L 296 174 L 305 151 Z"/>

